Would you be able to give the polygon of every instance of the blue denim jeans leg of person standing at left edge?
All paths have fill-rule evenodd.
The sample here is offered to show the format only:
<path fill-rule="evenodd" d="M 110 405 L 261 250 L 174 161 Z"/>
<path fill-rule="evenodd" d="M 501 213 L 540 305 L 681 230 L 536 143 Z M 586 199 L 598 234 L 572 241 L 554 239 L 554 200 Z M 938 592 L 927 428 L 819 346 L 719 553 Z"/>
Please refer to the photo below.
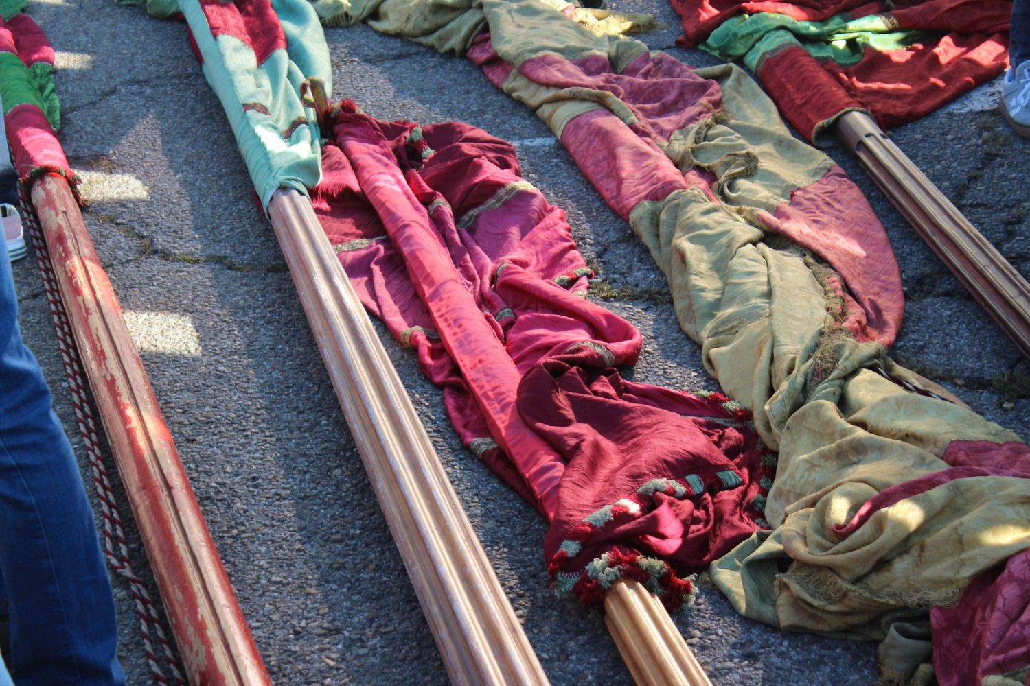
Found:
<path fill-rule="evenodd" d="M 0 259 L 0 576 L 19 686 L 124 684 L 110 582 L 78 466 L 22 342 Z"/>

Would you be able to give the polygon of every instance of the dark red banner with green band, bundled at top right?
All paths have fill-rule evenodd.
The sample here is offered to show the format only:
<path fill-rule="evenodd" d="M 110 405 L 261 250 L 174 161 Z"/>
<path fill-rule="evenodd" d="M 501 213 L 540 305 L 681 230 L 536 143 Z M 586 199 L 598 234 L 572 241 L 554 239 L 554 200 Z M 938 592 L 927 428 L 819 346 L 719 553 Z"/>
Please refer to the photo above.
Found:
<path fill-rule="evenodd" d="M 851 110 L 918 119 L 1008 63 L 1011 0 L 672 0 L 686 45 L 740 60 L 809 140 Z"/>

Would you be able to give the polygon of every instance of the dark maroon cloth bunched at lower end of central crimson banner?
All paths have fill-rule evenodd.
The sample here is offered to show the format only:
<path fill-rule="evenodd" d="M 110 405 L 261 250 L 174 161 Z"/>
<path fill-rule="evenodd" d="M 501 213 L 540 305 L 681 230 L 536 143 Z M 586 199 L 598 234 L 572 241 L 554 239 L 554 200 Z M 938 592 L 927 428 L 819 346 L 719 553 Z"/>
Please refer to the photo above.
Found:
<path fill-rule="evenodd" d="M 589 349 L 552 356 L 531 369 L 522 381 L 519 410 L 569 462 L 545 544 L 548 559 L 577 538 L 572 532 L 580 522 L 614 504 L 613 495 L 641 510 L 614 512 L 592 536 L 577 539 L 580 551 L 566 566 L 585 566 L 617 546 L 696 572 L 757 529 L 762 448 L 746 414 L 734 418 L 711 399 L 627 382 Z M 719 472 L 743 475 L 743 483 L 726 489 Z M 630 498 L 653 478 L 688 475 L 703 483 L 696 497 L 679 498 L 663 488 Z"/>

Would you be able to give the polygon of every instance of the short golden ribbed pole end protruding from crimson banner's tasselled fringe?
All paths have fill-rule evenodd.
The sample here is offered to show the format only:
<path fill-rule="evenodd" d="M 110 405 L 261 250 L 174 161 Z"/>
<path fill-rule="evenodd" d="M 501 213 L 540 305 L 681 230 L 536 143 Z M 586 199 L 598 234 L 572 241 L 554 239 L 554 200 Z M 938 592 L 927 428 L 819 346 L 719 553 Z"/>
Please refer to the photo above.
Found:
<path fill-rule="evenodd" d="M 605 623 L 639 686 L 712 686 L 661 602 L 640 582 L 612 585 Z"/>

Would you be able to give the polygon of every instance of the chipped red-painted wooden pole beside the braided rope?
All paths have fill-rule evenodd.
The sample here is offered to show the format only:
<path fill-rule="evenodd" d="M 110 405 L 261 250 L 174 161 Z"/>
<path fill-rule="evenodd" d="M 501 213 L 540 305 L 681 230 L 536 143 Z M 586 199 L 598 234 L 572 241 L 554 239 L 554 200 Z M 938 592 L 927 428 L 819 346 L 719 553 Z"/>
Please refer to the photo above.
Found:
<path fill-rule="evenodd" d="M 32 186 L 82 366 L 193 684 L 271 684 L 63 177 Z"/>

